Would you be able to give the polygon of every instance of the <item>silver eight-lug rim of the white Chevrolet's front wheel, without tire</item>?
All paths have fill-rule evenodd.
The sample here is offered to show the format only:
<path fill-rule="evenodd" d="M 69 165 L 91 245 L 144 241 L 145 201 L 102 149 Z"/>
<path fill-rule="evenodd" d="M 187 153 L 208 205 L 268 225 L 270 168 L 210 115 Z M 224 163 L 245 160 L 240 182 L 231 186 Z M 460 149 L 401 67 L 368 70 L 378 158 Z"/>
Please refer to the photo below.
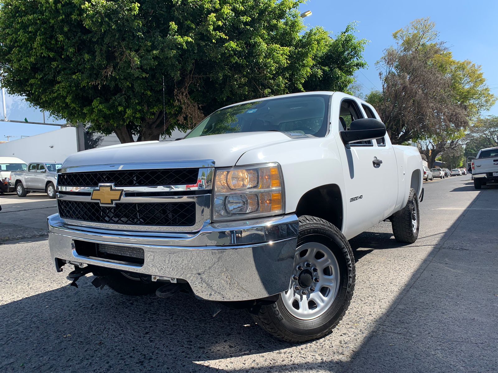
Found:
<path fill-rule="evenodd" d="M 281 293 L 282 302 L 292 316 L 314 319 L 334 302 L 339 282 L 339 264 L 332 251 L 318 242 L 305 243 L 296 250 L 290 286 Z"/>

